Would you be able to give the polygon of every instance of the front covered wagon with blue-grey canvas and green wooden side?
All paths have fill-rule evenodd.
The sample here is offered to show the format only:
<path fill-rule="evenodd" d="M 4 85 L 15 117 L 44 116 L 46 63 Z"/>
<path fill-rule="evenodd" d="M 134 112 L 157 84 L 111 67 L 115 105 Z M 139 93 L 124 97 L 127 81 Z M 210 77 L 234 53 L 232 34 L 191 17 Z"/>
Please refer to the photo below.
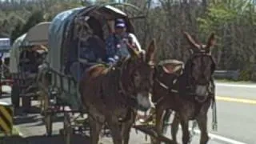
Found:
<path fill-rule="evenodd" d="M 97 49 L 102 54 L 106 53 L 105 41 L 109 34 L 114 32 L 114 21 L 117 18 L 124 19 L 127 25 L 126 31 L 134 34 L 132 21 L 144 18 L 144 15 L 136 6 L 111 3 L 66 10 L 53 19 L 49 28 L 47 59 L 50 85 L 47 87 L 45 85 L 45 91 L 49 92 L 45 106 L 47 134 L 51 134 L 52 131 L 52 114 L 84 112 L 77 90 L 78 82 L 71 76 L 70 66 L 74 62 L 79 62 L 80 66 L 76 70 L 79 73 L 83 72 L 82 66 L 86 64 L 94 65 L 102 62 L 102 60 L 96 63 L 90 62 L 89 59 L 82 58 L 82 52 L 90 49 L 87 45 L 89 38 L 97 38 Z M 141 50 L 138 40 L 134 39 L 134 42 Z M 70 106 L 70 110 L 56 110 L 58 106 Z M 64 127 L 69 123 L 68 119 L 65 118 Z"/>

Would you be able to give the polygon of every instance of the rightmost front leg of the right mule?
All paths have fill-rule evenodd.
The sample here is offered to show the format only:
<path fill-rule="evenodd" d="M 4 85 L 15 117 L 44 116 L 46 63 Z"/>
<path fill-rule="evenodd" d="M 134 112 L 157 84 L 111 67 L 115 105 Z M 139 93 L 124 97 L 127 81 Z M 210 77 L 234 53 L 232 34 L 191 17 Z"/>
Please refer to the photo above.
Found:
<path fill-rule="evenodd" d="M 200 144 L 206 144 L 209 140 L 208 130 L 207 130 L 207 114 L 202 115 L 197 118 L 198 127 L 201 131 Z"/>

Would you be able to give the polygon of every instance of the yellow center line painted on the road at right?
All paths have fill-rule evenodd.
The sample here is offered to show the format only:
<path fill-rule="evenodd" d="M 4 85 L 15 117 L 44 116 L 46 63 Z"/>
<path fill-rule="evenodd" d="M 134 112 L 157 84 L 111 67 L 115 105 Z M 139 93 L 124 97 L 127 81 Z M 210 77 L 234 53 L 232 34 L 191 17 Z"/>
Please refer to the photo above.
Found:
<path fill-rule="evenodd" d="M 246 98 L 230 98 L 230 97 L 221 97 L 221 96 L 216 96 L 216 99 L 218 101 L 224 101 L 224 102 L 239 102 L 239 103 L 256 105 L 256 99 L 254 100 L 254 99 L 246 99 Z"/>

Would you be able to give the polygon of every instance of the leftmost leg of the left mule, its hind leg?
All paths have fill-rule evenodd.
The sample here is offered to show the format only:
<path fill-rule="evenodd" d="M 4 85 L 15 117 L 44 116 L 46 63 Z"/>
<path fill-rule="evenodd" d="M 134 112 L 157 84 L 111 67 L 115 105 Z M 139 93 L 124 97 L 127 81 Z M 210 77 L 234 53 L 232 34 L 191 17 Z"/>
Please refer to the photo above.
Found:
<path fill-rule="evenodd" d="M 90 125 L 90 144 L 98 144 L 99 134 L 102 130 L 103 124 L 101 122 L 95 121 L 94 118 L 89 117 Z"/>

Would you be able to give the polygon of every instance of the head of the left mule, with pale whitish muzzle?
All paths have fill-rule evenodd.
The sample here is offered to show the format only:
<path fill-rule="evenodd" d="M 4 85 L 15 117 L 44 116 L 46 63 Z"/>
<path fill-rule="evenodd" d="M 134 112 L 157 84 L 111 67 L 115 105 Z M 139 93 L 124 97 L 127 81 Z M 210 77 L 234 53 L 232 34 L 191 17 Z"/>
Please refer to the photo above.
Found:
<path fill-rule="evenodd" d="M 155 41 L 150 42 L 146 52 L 128 49 L 130 52 L 129 79 L 139 110 L 148 110 L 153 86 Z"/>

